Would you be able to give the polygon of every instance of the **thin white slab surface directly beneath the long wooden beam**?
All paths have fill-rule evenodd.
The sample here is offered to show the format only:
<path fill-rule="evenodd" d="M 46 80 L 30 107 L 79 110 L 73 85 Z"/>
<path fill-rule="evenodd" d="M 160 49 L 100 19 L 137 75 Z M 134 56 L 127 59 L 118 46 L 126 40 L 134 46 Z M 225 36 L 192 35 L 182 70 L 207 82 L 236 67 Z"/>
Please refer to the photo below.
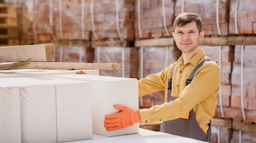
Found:
<path fill-rule="evenodd" d="M 33 77 L 33 76 L 54 76 L 65 74 L 76 74 L 81 70 L 44 70 L 44 69 L 16 69 L 16 70 L 1 70 L 0 78 L 13 78 L 13 77 Z M 99 75 L 99 70 L 83 70 L 87 74 Z"/>

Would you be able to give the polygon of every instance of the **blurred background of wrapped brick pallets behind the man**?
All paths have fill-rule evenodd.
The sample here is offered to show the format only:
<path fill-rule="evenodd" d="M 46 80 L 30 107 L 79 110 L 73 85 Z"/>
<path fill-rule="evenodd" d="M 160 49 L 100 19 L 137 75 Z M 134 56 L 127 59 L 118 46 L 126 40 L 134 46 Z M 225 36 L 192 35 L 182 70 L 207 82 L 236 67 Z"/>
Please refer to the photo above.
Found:
<path fill-rule="evenodd" d="M 0 2 L 1 46 L 53 43 L 55 62 L 122 63 L 122 71 L 100 75 L 137 79 L 160 72 L 181 56 L 172 39 L 173 22 L 181 12 L 195 12 L 205 31 L 200 47 L 221 67 L 215 118 L 255 128 L 255 0 Z M 139 101 L 141 108 L 163 103 L 164 91 Z M 256 130 L 239 134 L 244 128 L 213 128 L 212 142 L 236 143 L 239 138 L 243 143 L 256 142 Z"/>

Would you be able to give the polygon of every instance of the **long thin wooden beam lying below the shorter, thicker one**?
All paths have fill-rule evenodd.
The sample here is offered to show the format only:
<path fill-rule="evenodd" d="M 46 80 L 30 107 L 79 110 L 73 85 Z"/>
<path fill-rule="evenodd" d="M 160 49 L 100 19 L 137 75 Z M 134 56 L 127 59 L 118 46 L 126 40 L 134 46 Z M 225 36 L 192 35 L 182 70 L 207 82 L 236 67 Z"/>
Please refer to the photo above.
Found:
<path fill-rule="evenodd" d="M 98 69 L 121 70 L 121 64 L 113 63 L 72 63 L 72 62 L 12 62 L 1 63 L 0 69 Z"/>

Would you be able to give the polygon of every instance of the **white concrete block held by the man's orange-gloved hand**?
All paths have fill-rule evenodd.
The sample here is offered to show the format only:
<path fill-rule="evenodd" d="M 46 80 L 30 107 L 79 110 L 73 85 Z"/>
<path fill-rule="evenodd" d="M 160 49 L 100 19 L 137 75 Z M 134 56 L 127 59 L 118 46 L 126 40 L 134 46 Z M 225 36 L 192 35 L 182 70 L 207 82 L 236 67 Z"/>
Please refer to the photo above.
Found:
<path fill-rule="evenodd" d="M 104 128 L 104 116 L 119 112 L 113 107 L 114 104 L 128 106 L 133 111 L 138 110 L 137 79 L 82 74 L 54 77 L 91 82 L 92 133 L 102 136 L 120 136 L 139 132 L 139 123 L 116 131 L 106 131 Z"/>

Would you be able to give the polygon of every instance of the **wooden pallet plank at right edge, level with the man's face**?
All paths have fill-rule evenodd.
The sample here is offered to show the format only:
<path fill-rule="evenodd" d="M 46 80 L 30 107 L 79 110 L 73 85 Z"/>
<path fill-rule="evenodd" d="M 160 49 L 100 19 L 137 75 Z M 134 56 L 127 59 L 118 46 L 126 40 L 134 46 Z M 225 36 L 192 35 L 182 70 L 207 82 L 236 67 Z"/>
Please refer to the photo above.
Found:
<path fill-rule="evenodd" d="M 256 44 L 256 37 L 228 37 L 228 45 Z"/>

